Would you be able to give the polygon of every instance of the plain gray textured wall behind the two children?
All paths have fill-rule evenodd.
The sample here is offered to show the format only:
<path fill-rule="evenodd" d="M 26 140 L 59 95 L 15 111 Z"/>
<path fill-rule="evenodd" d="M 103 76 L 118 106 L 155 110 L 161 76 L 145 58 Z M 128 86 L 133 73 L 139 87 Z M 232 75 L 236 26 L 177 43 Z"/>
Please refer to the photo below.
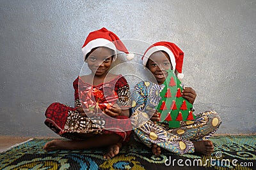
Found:
<path fill-rule="evenodd" d="M 122 39 L 179 45 L 196 111 L 218 111 L 218 133 L 255 133 L 255 17 L 256 2 L 243 0 L 1 0 L 0 134 L 55 136 L 44 111 L 56 101 L 73 104 L 81 46 L 101 27 Z"/>

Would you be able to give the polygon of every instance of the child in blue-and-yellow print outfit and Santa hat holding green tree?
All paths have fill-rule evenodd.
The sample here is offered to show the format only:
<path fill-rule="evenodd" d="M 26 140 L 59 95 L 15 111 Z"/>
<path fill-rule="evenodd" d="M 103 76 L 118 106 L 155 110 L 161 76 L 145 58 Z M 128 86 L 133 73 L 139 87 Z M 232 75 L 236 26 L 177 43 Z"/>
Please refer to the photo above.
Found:
<path fill-rule="evenodd" d="M 157 84 L 141 81 L 136 85 L 132 97 L 131 120 L 136 139 L 151 147 L 154 155 L 160 155 L 161 148 L 179 154 L 198 152 L 211 155 L 214 152 L 214 146 L 208 139 L 221 124 L 218 113 L 205 111 L 197 114 L 193 121 L 181 121 L 179 128 L 169 128 L 168 124 L 159 122 L 159 113 L 153 109 L 159 104 L 160 98 L 156 99 L 152 94 L 159 94 L 163 90 L 163 83 L 168 76 L 167 70 L 175 70 L 177 78 L 183 78 L 183 58 L 182 50 L 174 43 L 166 41 L 154 43 L 142 58 L 143 66 L 151 71 Z M 182 97 L 193 104 L 196 92 L 191 87 L 184 87 Z M 147 113 L 150 120 L 143 113 Z"/>

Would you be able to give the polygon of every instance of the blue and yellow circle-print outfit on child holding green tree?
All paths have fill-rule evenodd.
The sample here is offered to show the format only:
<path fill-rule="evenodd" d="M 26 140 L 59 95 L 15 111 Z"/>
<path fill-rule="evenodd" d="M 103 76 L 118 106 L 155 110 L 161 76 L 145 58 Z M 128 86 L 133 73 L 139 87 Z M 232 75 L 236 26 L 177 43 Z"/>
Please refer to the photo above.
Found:
<path fill-rule="evenodd" d="M 193 121 L 181 121 L 179 128 L 170 129 L 164 122 L 154 124 L 149 120 L 147 108 L 156 108 L 161 97 L 159 92 L 164 85 L 141 81 L 132 96 L 131 122 L 135 138 L 147 145 L 152 143 L 173 153 L 195 152 L 192 141 L 209 139 L 217 131 L 221 119 L 215 111 L 205 111 L 196 115 Z"/>

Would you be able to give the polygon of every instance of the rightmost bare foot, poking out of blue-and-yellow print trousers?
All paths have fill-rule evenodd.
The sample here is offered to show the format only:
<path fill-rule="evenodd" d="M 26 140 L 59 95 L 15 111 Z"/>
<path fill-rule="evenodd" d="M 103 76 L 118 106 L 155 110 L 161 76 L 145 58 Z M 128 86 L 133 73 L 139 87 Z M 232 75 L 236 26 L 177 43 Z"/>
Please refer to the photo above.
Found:
<path fill-rule="evenodd" d="M 214 152 L 214 146 L 212 141 L 193 141 L 196 153 L 202 153 L 204 155 L 211 155 Z"/>

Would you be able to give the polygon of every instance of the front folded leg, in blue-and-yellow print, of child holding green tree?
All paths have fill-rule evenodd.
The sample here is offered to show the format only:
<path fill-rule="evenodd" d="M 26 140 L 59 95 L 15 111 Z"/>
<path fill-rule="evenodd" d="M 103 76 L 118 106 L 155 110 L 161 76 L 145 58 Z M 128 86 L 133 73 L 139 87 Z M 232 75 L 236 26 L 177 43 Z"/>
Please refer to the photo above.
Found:
<path fill-rule="evenodd" d="M 188 139 L 182 139 L 150 120 L 138 129 L 134 129 L 134 132 L 141 142 L 152 148 L 154 155 L 160 155 L 161 148 L 179 154 L 198 152 L 211 155 L 214 152 L 211 141 L 192 142 Z"/>

